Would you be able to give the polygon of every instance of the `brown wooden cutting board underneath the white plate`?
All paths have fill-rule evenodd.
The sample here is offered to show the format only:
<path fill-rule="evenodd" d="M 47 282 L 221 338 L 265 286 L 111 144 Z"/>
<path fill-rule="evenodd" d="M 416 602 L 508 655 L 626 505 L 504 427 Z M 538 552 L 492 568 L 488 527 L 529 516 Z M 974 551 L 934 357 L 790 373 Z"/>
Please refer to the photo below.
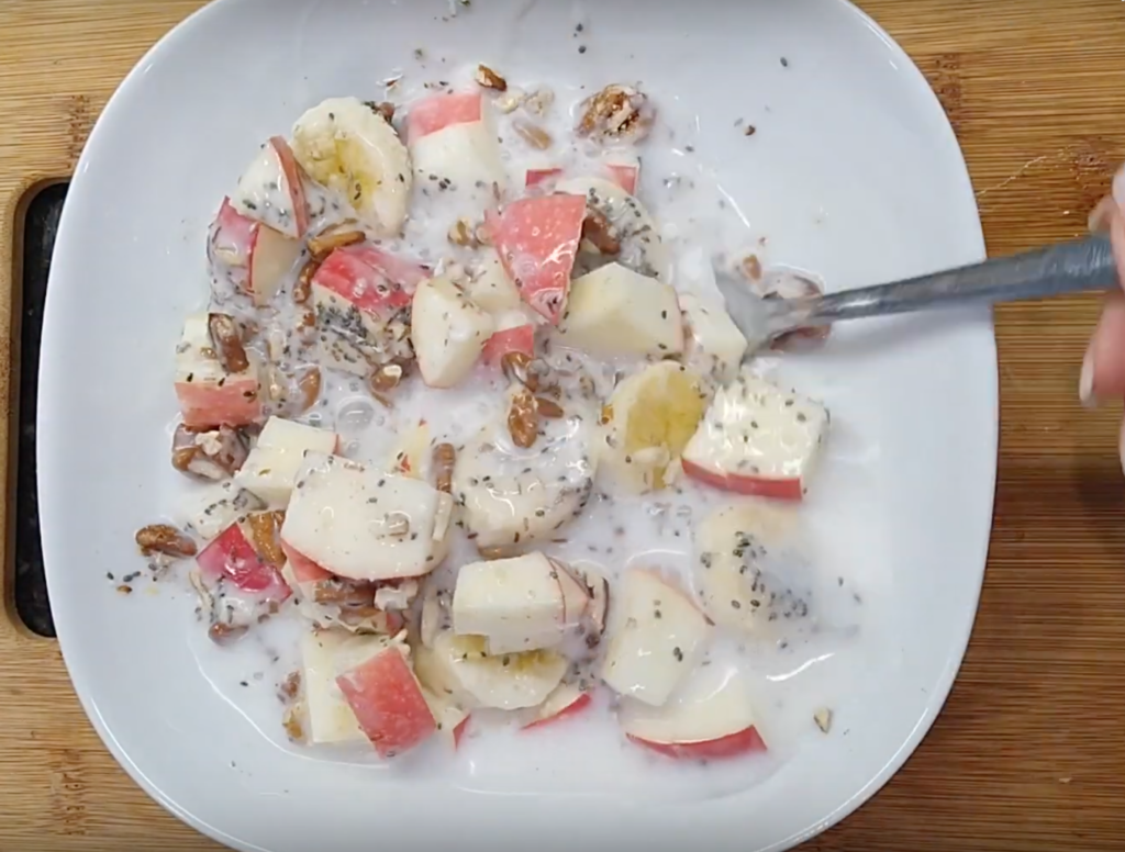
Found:
<path fill-rule="evenodd" d="M 4 316 L 18 309 L 12 246 L 21 242 L 28 193 L 70 174 L 120 79 L 201 4 L 0 4 Z M 862 6 L 914 56 L 940 97 L 969 162 L 989 251 L 1014 252 L 1081 234 L 1087 211 L 1125 161 L 1125 3 L 866 0 Z M 945 710 L 906 768 L 808 849 L 1119 849 L 1125 836 L 1120 407 L 1090 413 L 1077 397 L 1097 312 L 1097 299 L 1078 297 L 998 311 L 999 483 L 969 654 Z M 18 374 L 12 369 L 18 351 L 11 334 L 0 337 L 4 399 L 15 391 L 9 377 Z M 2 438 L 12 414 L 9 405 L 0 446 L 8 445 Z M 3 457 L 10 468 L 8 462 Z M 12 502 L 8 508 L 18 510 Z M 10 577 L 4 599 L 0 852 L 218 849 L 165 814 L 117 767 L 79 707 L 57 645 L 17 626 Z"/>

